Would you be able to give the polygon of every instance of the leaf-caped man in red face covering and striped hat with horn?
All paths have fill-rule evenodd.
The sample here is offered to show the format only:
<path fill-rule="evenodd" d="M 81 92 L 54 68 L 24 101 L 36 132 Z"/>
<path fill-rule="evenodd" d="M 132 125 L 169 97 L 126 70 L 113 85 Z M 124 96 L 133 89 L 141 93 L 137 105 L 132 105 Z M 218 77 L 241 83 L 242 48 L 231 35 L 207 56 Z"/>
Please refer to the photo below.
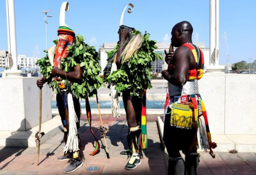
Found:
<path fill-rule="evenodd" d="M 86 99 L 86 113 L 91 129 L 91 110 L 88 98 L 97 94 L 97 89 L 103 84 L 99 77 L 98 53 L 93 46 L 84 42 L 84 37 L 75 35 L 75 32 L 65 24 L 65 11 L 68 2 L 64 2 L 60 9 L 60 27 L 58 40 L 50 48 L 47 55 L 39 59 L 42 75 L 37 80 L 37 86 L 42 88 L 45 82 L 57 93 L 56 101 L 64 127 L 65 149 L 64 155 L 57 160 L 69 160 L 64 173 L 71 173 L 83 166 L 83 150 L 77 129 L 80 126 L 81 106 L 79 98 Z M 104 84 L 103 84 L 104 86 Z M 99 142 L 95 138 L 95 149 L 91 155 L 99 152 Z"/>

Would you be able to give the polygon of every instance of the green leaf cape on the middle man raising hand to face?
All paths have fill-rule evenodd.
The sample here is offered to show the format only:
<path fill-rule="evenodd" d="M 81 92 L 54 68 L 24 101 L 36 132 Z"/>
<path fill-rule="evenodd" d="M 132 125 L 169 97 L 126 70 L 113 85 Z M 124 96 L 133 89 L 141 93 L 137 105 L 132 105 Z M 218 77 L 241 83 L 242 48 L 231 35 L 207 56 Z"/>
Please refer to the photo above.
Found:
<path fill-rule="evenodd" d="M 133 35 L 141 33 L 138 30 L 131 32 Z M 139 95 L 144 89 L 152 88 L 152 64 L 157 59 L 162 57 L 154 50 L 157 49 L 156 41 L 149 39 L 149 33 L 145 32 L 143 37 L 143 43 L 140 49 L 136 51 L 129 61 L 125 62 L 120 69 L 112 72 L 108 72 L 105 75 L 104 81 L 115 83 L 115 89 L 118 93 L 125 90 L 131 92 L 130 95 Z M 120 42 L 118 41 L 113 51 L 107 52 L 108 61 L 113 58 L 113 55 L 118 51 Z"/>

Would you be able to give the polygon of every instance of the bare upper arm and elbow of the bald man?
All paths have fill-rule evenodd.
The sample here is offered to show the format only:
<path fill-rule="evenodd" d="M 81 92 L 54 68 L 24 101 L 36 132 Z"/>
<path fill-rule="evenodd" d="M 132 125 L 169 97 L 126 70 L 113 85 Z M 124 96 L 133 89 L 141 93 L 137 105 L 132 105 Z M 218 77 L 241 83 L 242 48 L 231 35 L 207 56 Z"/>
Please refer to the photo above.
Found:
<path fill-rule="evenodd" d="M 173 85 L 183 86 L 188 80 L 189 54 L 185 46 L 176 49 L 173 57 L 174 72 L 172 75 L 167 70 L 162 71 L 162 76 Z"/>

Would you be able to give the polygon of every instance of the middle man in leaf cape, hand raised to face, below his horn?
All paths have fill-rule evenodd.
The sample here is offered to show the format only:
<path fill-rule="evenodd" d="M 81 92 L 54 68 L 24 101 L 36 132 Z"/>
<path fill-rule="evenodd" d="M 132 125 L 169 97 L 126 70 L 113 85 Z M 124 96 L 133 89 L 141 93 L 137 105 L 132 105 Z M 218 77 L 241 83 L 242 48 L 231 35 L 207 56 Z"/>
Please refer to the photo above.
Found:
<path fill-rule="evenodd" d="M 115 83 L 115 89 L 123 95 L 129 149 L 120 154 L 131 156 L 125 169 L 132 170 L 141 163 L 139 151 L 147 147 L 146 89 L 152 88 L 151 62 L 162 58 L 154 52 L 157 46 L 149 40 L 148 33 L 141 35 L 136 29 L 121 25 L 118 34 L 120 41 L 108 60 L 112 62 L 116 54 L 118 69 L 112 73 L 106 71 L 105 75 L 107 82 Z"/>

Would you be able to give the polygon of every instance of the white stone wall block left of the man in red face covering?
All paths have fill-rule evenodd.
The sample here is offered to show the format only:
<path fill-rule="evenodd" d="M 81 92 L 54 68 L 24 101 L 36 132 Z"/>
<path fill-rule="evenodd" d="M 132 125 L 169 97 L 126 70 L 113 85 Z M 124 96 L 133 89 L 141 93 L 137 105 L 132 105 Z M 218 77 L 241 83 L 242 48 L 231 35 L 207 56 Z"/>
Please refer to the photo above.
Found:
<path fill-rule="evenodd" d="M 0 131 L 26 131 L 39 124 L 38 77 L 0 78 Z M 52 118 L 51 90 L 42 89 L 42 123 Z"/>

